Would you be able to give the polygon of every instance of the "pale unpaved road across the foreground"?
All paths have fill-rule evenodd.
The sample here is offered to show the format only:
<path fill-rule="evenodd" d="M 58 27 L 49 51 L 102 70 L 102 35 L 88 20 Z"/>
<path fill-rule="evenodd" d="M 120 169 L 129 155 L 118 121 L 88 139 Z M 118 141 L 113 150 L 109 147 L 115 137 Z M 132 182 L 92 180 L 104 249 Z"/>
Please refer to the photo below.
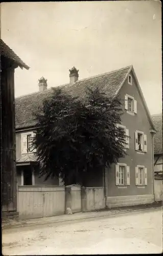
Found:
<path fill-rule="evenodd" d="M 162 252 L 162 210 L 4 230 L 3 255 Z"/>

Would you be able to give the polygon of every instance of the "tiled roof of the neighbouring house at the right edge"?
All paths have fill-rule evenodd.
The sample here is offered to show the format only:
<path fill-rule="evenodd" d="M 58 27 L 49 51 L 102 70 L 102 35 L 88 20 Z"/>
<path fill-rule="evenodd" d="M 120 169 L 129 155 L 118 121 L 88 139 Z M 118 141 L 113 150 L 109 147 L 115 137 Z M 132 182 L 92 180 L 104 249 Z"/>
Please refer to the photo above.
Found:
<path fill-rule="evenodd" d="M 162 154 L 162 114 L 152 115 L 157 133 L 154 135 L 154 154 Z"/>

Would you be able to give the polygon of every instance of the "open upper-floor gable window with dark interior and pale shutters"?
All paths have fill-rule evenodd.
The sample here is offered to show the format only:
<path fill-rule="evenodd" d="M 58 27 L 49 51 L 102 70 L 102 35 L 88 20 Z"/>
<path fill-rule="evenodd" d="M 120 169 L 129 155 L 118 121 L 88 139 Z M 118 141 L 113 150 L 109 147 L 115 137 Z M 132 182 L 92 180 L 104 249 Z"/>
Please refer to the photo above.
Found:
<path fill-rule="evenodd" d="M 144 132 L 135 132 L 135 150 L 140 152 L 147 152 L 147 135 Z"/>

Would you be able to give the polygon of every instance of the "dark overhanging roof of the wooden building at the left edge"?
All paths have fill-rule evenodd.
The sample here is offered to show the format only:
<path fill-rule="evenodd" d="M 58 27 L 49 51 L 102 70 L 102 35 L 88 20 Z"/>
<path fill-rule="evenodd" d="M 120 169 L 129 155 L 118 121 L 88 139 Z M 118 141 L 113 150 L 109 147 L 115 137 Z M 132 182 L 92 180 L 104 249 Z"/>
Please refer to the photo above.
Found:
<path fill-rule="evenodd" d="M 0 49 L 2 56 L 14 60 L 21 69 L 29 69 L 29 67 L 14 53 L 14 51 L 9 46 L 5 44 L 2 39 Z"/>

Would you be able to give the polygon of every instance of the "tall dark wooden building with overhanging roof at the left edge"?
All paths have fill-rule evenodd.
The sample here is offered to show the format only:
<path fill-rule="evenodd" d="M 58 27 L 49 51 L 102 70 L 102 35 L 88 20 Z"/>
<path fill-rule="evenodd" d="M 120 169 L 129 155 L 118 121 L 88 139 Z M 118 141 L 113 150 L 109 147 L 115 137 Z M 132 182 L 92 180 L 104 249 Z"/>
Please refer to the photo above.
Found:
<path fill-rule="evenodd" d="M 16 212 L 14 71 L 29 67 L 1 39 L 2 212 Z"/>

